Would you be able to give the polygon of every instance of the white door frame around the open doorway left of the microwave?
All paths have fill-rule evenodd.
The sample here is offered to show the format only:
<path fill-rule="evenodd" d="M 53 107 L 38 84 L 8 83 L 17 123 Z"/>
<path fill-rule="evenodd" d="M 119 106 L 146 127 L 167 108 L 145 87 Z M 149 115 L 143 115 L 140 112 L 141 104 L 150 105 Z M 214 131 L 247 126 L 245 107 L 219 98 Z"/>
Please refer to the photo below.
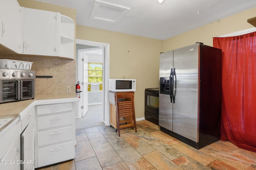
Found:
<path fill-rule="evenodd" d="M 103 47 L 104 57 L 102 60 L 103 64 L 103 82 L 102 82 L 102 91 L 103 91 L 103 122 L 106 126 L 110 126 L 110 113 L 109 113 L 109 103 L 108 103 L 108 80 L 109 80 L 109 68 L 110 68 L 110 44 L 101 43 L 95 41 L 88 41 L 83 39 L 76 39 L 76 44 L 90 45 L 96 47 Z M 79 62 L 79 61 L 78 61 Z M 78 70 L 76 70 L 78 72 Z"/>

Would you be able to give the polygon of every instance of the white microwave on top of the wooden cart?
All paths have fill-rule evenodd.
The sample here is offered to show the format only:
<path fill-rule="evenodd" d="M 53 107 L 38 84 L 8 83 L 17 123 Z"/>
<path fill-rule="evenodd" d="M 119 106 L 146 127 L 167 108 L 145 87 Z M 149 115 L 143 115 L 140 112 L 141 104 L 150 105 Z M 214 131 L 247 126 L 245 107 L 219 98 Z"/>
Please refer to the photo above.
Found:
<path fill-rule="evenodd" d="M 136 79 L 109 79 L 108 90 L 112 92 L 135 92 Z"/>

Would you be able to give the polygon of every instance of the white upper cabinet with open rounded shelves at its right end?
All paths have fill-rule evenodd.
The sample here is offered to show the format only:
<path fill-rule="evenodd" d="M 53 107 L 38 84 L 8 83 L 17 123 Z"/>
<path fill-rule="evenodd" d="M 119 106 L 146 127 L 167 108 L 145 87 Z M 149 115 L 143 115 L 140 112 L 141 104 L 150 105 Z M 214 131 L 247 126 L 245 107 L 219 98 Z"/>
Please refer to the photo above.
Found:
<path fill-rule="evenodd" d="M 58 12 L 22 8 L 22 53 L 74 59 L 74 21 Z"/>

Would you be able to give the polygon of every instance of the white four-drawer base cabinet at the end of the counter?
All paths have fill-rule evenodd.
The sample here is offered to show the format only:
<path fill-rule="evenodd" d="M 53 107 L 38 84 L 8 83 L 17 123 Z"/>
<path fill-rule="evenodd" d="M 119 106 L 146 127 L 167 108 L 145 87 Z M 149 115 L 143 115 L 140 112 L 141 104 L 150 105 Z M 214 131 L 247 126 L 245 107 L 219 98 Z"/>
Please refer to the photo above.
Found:
<path fill-rule="evenodd" d="M 36 106 L 36 167 L 75 157 L 75 103 Z"/>

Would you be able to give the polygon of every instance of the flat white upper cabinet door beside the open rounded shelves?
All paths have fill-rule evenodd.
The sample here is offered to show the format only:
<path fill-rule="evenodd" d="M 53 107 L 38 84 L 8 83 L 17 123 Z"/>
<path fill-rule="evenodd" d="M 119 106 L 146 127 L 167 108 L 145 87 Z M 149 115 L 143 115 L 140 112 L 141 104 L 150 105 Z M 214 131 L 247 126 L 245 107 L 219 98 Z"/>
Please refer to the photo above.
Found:
<path fill-rule="evenodd" d="M 24 9 L 23 53 L 55 56 L 56 12 Z"/>

